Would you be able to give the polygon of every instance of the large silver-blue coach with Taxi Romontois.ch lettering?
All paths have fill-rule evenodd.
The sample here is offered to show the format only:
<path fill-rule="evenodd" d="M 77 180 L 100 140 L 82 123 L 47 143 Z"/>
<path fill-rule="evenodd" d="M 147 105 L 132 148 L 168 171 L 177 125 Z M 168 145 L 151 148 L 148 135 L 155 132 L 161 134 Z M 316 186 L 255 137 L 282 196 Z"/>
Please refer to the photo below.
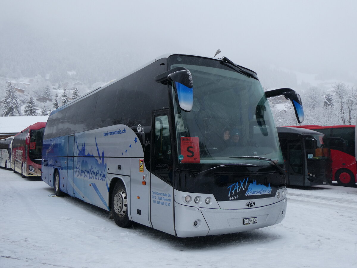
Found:
<path fill-rule="evenodd" d="M 52 111 L 42 180 L 120 227 L 194 237 L 279 223 L 286 180 L 267 102 L 277 95 L 300 123 L 294 90 L 264 92 L 255 72 L 226 57 L 159 57 Z"/>

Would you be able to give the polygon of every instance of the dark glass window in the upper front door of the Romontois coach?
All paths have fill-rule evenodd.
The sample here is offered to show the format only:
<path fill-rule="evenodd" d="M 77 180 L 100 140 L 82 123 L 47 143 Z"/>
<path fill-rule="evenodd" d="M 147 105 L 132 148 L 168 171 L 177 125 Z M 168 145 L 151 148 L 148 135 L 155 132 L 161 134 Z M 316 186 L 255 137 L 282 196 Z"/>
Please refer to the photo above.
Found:
<path fill-rule="evenodd" d="M 155 117 L 154 163 L 152 171 L 172 183 L 172 154 L 169 119 L 167 115 Z"/>

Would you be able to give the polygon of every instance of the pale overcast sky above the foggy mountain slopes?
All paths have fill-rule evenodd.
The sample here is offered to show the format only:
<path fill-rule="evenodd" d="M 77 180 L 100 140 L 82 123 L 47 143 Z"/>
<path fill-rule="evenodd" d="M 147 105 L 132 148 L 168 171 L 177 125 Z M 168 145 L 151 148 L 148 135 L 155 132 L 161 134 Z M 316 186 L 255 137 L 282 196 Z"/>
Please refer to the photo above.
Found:
<path fill-rule="evenodd" d="M 255 69 L 273 64 L 306 73 L 344 70 L 357 77 L 354 0 L 0 0 L 11 41 L 37 35 L 105 43 L 105 53 L 227 56 Z M 1 36 L 4 38 L 4 36 Z M 6 51 L 1 51 L 6 53 Z"/>

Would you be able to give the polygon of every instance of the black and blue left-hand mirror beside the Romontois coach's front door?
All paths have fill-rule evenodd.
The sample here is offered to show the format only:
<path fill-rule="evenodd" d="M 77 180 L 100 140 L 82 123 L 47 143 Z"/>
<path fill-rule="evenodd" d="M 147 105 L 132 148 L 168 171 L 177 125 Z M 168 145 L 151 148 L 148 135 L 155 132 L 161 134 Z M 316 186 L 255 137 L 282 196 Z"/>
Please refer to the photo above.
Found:
<path fill-rule="evenodd" d="M 167 84 L 171 81 L 178 98 L 178 105 L 184 111 L 191 111 L 193 106 L 193 82 L 191 72 L 185 67 L 176 67 L 155 77 L 155 81 Z"/>

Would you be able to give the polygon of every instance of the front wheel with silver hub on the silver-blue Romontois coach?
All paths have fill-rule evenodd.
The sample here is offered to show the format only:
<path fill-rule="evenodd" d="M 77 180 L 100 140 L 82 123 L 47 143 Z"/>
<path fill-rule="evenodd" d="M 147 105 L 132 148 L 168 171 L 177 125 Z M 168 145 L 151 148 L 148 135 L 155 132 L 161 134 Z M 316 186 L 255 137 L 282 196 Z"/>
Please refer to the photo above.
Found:
<path fill-rule="evenodd" d="M 131 220 L 129 220 L 127 208 L 128 200 L 126 189 L 124 183 L 120 180 L 114 186 L 111 196 L 110 209 L 116 225 L 123 228 L 128 228 L 132 225 Z"/>

